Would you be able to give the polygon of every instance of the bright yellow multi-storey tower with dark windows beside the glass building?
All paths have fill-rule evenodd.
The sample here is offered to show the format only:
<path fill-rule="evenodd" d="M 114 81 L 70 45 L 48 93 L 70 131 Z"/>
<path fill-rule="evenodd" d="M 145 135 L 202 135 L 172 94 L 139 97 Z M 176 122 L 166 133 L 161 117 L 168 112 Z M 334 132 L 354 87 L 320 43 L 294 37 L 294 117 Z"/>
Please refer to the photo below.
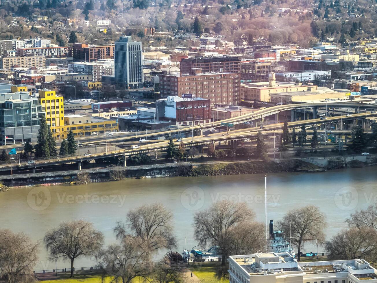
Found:
<path fill-rule="evenodd" d="M 38 101 L 42 105 L 42 110 L 46 112 L 47 124 L 52 132 L 55 128 L 64 125 L 63 96 L 56 95 L 54 90 L 43 88 L 39 90 Z"/>

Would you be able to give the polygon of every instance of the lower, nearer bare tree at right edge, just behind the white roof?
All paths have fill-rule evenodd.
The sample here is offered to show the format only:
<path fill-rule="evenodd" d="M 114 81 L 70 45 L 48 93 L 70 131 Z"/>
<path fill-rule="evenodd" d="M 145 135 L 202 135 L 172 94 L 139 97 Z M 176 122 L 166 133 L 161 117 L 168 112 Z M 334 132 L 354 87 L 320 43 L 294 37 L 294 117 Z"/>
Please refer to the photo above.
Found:
<path fill-rule="evenodd" d="M 365 258 L 375 253 L 376 236 L 376 231 L 366 226 L 343 229 L 325 243 L 325 250 L 333 260 Z"/>

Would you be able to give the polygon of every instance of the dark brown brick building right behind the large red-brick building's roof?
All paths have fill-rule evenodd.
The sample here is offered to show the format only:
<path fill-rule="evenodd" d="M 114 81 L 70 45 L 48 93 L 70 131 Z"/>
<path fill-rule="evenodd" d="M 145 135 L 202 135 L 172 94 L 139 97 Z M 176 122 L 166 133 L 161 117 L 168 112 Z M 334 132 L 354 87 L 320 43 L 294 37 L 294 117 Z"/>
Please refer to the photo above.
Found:
<path fill-rule="evenodd" d="M 241 60 L 230 56 L 184 58 L 180 68 L 184 74 L 190 73 L 192 68 L 202 68 L 203 73 L 240 73 Z"/>

